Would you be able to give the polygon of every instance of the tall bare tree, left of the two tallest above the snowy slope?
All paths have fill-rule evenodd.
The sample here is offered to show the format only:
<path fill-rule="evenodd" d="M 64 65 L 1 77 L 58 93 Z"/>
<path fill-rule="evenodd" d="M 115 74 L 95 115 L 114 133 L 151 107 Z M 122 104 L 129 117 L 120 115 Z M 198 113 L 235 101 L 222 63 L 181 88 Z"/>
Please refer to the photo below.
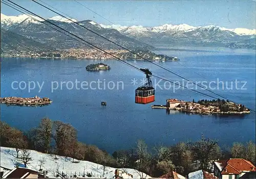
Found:
<path fill-rule="evenodd" d="M 52 121 L 50 120 L 50 118 L 48 117 L 42 118 L 37 131 L 38 131 L 38 138 L 42 143 L 42 148 L 44 152 L 48 153 L 50 150 L 51 135 L 52 135 Z"/>

